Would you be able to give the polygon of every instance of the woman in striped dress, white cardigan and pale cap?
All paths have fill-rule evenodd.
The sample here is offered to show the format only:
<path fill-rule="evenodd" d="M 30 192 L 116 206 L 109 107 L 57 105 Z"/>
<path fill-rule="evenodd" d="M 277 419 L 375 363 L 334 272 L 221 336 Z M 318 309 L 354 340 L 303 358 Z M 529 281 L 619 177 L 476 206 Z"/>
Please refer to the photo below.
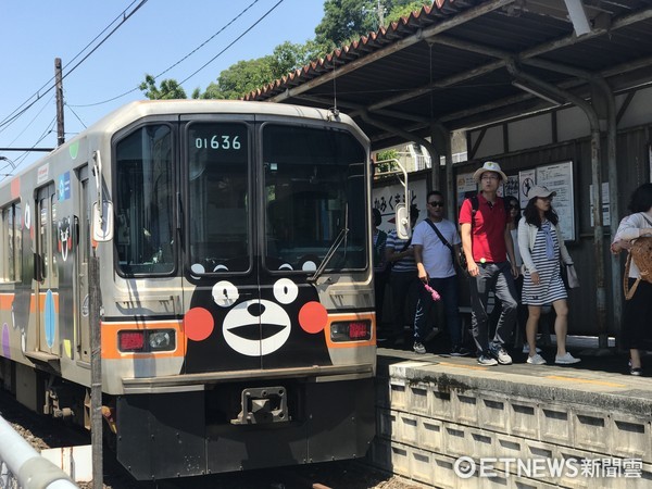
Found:
<path fill-rule="evenodd" d="M 567 293 L 562 281 L 560 256 L 570 265 L 573 259 L 566 250 L 559 230 L 559 216 L 552 209 L 552 198 L 556 192 L 546 187 L 535 187 L 529 192 L 530 200 L 524 211 L 525 223 L 518 226 L 518 249 L 523 259 L 524 278 L 522 301 L 528 306 L 525 334 L 529 344 L 527 363 L 543 365 L 546 360 L 537 353 L 536 339 L 541 317 L 541 306 L 552 304 L 556 318 L 554 333 L 557 352 L 554 363 L 567 365 L 579 362 L 566 351 L 568 331 Z"/>

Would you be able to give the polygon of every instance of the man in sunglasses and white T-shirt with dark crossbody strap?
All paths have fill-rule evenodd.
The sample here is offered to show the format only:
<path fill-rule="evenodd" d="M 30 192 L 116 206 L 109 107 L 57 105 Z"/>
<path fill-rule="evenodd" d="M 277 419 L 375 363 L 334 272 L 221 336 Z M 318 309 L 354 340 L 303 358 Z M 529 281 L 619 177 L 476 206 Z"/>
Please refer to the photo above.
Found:
<path fill-rule="evenodd" d="M 414 228 L 412 243 L 418 278 L 439 292 L 451 337 L 451 355 L 465 356 L 457 301 L 457 277 L 454 256 L 460 254 L 460 235 L 453 223 L 443 217 L 443 196 L 432 190 L 426 198 L 428 217 Z M 431 293 L 422 287 L 414 317 L 414 351 L 425 353 L 424 340 L 432 331 L 428 316 L 434 304 Z"/>

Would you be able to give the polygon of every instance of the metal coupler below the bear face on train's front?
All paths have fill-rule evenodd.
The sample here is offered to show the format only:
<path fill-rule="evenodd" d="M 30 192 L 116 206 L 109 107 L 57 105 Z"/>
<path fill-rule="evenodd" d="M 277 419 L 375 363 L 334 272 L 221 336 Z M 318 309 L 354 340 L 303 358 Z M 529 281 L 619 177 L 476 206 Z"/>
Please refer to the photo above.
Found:
<path fill-rule="evenodd" d="M 255 387 L 242 389 L 241 411 L 231 425 L 260 425 L 286 423 L 288 402 L 285 387 Z"/>

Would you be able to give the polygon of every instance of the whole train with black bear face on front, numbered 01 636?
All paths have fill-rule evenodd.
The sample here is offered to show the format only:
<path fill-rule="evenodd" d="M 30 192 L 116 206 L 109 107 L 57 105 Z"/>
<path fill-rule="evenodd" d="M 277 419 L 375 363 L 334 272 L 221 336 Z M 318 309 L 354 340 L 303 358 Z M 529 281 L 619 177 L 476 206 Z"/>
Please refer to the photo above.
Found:
<path fill-rule="evenodd" d="M 104 437 L 135 478 L 363 456 L 371 174 L 337 111 L 118 109 L 0 186 L 4 387 L 88 426 L 99 324 Z"/>

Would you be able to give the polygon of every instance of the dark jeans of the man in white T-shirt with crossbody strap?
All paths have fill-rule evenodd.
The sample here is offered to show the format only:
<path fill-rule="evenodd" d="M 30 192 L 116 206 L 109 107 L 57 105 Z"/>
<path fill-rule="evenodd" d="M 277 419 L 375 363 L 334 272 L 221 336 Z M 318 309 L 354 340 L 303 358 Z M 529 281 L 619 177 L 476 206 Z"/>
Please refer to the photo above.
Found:
<path fill-rule="evenodd" d="M 430 278 L 428 285 L 439 292 L 443 302 L 446 324 L 451 336 L 451 347 L 460 347 L 462 344 L 462 322 L 460 321 L 460 302 L 457 301 L 457 277 L 453 275 L 446 278 Z M 427 322 L 428 314 L 434 304 L 435 301 L 430 292 L 422 286 L 414 316 L 415 341 L 422 342 L 432 329 Z"/>

